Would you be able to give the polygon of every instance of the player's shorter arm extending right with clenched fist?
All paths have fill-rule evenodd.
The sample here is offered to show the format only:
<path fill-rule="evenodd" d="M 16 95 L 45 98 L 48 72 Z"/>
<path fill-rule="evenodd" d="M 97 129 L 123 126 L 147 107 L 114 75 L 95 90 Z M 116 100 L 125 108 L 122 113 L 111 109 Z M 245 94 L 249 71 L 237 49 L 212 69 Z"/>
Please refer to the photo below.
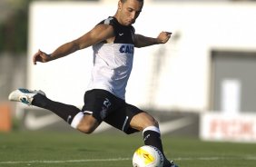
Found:
<path fill-rule="evenodd" d="M 134 34 L 135 47 L 145 47 L 153 44 L 165 44 L 170 39 L 172 33 L 161 32 L 156 38 Z"/>

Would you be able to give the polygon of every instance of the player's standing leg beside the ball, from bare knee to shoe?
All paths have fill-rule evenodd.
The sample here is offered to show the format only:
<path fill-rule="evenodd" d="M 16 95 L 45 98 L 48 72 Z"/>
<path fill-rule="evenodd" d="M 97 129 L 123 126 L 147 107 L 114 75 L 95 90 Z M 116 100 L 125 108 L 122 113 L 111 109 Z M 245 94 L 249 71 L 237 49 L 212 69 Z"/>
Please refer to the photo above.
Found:
<path fill-rule="evenodd" d="M 164 155 L 159 125 L 153 116 L 149 113 L 138 113 L 133 116 L 130 125 L 134 129 L 143 131 L 143 140 L 145 145 L 153 145 L 162 152 L 164 157 L 163 167 L 178 167 L 174 162 L 168 161 Z"/>

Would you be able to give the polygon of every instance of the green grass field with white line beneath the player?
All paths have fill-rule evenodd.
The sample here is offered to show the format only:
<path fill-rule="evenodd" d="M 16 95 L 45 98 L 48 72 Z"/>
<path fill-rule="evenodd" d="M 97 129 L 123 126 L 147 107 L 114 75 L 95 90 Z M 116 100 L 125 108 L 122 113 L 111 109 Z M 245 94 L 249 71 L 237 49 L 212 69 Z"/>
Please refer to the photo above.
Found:
<path fill-rule="evenodd" d="M 180 167 L 255 167 L 252 143 L 201 142 L 162 136 L 166 156 Z M 0 133 L 0 167 L 132 167 L 141 134 Z"/>

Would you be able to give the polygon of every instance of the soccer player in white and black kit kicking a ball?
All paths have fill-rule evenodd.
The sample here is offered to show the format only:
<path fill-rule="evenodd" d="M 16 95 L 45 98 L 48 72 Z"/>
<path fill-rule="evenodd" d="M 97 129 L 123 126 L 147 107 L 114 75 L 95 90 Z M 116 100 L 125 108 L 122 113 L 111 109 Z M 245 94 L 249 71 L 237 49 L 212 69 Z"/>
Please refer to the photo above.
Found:
<path fill-rule="evenodd" d="M 52 111 L 74 129 L 93 133 L 102 123 L 130 134 L 143 132 L 145 145 L 157 147 L 163 154 L 159 125 L 152 115 L 125 102 L 125 87 L 133 67 L 134 47 L 165 44 L 172 33 L 161 32 L 156 38 L 136 34 L 133 24 L 143 9 L 143 0 L 119 0 L 113 16 L 104 19 L 81 37 L 59 46 L 52 54 L 38 51 L 33 63 L 47 63 L 93 46 L 94 66 L 84 107 L 54 102 L 42 91 L 17 89 L 9 100 Z M 177 167 L 164 156 L 163 167 Z"/>

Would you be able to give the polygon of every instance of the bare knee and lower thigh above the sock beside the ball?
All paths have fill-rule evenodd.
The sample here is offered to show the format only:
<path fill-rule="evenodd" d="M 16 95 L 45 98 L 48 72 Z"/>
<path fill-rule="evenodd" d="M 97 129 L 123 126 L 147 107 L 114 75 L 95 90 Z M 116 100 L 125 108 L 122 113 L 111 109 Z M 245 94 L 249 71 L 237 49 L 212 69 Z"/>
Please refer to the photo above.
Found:
<path fill-rule="evenodd" d="M 143 112 L 133 116 L 130 126 L 138 131 L 143 131 L 148 126 L 158 127 L 158 123 L 151 114 Z"/>

